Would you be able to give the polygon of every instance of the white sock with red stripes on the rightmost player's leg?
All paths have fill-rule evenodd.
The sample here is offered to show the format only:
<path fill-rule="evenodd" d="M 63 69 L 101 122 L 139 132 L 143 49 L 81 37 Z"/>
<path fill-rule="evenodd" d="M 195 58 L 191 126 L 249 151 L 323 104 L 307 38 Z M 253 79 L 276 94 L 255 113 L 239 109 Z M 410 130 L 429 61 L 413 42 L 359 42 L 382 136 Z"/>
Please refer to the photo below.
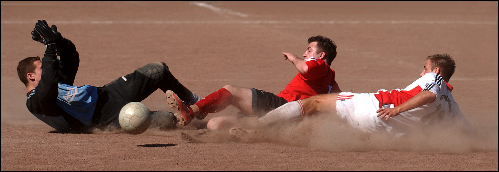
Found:
<path fill-rule="evenodd" d="M 283 122 L 298 117 L 303 117 L 304 109 L 301 100 L 288 102 L 277 109 L 267 113 L 265 116 L 258 118 L 260 122 L 271 124 L 274 122 Z"/>

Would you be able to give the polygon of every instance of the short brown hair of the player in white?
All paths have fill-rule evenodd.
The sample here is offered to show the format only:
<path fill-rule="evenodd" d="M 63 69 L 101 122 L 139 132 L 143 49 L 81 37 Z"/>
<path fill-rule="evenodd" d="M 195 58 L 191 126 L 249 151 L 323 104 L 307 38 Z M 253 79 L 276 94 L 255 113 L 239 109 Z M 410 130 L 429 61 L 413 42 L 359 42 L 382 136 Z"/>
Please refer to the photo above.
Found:
<path fill-rule="evenodd" d="M 448 54 L 435 54 L 428 56 L 426 60 L 430 60 L 431 70 L 436 67 L 440 68 L 439 75 L 445 82 L 449 82 L 450 77 L 452 77 L 456 70 L 456 62 L 452 59 L 452 56 Z"/>

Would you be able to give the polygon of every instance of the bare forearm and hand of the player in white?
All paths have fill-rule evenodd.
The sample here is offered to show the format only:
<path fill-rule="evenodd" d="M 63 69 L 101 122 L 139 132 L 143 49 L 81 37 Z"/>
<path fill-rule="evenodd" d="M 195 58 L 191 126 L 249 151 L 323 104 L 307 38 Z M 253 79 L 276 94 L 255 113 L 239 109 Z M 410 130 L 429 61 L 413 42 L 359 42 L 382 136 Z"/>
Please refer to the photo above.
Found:
<path fill-rule="evenodd" d="M 381 116 L 381 118 L 384 118 L 386 116 L 386 120 L 388 120 L 390 117 L 397 116 L 402 112 L 431 103 L 435 101 L 436 98 L 437 96 L 435 95 L 435 93 L 432 93 L 430 91 L 422 91 L 397 107 L 378 109 L 376 111 L 378 112 L 378 115 L 376 116 Z"/>

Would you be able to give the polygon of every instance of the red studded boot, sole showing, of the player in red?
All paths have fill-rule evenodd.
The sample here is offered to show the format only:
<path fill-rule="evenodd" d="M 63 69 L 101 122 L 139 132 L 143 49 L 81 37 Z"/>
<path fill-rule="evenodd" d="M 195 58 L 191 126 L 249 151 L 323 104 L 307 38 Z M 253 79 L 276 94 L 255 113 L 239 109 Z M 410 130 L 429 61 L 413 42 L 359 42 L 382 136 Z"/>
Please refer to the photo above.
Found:
<path fill-rule="evenodd" d="M 192 116 L 189 107 L 172 90 L 166 91 L 166 102 L 175 110 L 174 115 L 180 125 L 185 126 L 191 123 Z"/>

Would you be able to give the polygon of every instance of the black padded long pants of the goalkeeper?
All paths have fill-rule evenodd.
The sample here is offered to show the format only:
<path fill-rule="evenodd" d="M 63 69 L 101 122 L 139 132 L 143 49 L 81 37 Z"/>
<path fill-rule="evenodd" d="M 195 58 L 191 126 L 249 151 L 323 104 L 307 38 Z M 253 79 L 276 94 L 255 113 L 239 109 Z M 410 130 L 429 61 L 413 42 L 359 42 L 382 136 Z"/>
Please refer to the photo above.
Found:
<path fill-rule="evenodd" d="M 118 115 L 121 107 L 129 102 L 141 102 L 158 89 L 163 92 L 172 90 L 186 102 L 193 97 L 192 92 L 178 82 L 165 63 L 150 63 L 97 88 L 99 97 L 92 118 L 93 123 L 98 123 L 100 127 L 119 126 Z M 169 112 L 159 114 L 172 115 Z M 161 126 L 161 124 L 156 125 Z"/>

